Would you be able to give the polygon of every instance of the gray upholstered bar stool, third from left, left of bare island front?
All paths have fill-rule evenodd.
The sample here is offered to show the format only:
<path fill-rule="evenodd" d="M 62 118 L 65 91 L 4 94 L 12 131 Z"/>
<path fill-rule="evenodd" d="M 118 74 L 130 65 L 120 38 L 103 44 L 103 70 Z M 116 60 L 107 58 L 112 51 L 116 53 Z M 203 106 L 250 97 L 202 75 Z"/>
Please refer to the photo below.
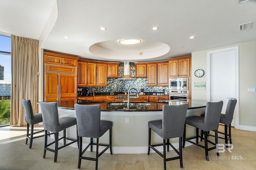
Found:
<path fill-rule="evenodd" d="M 110 148 L 112 154 L 112 122 L 100 120 L 100 105 L 80 105 L 75 104 L 77 131 L 79 141 L 79 158 L 78 168 L 81 166 L 81 160 L 94 160 L 96 161 L 96 170 L 98 169 L 98 158 Z M 99 144 L 99 138 L 106 133 L 109 129 L 109 145 Z M 82 150 L 82 137 L 89 137 L 90 143 Z M 96 143 L 93 143 L 93 138 L 96 138 Z M 82 156 L 84 152 L 90 147 L 92 152 L 93 145 L 96 145 L 96 158 Z M 105 149 L 99 153 L 99 146 L 104 146 Z"/>

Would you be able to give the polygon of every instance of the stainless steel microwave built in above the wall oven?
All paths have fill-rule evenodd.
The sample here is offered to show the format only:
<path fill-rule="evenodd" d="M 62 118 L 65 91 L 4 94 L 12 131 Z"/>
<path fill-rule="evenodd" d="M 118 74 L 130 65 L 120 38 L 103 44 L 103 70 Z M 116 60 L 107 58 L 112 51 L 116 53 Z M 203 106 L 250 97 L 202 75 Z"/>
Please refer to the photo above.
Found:
<path fill-rule="evenodd" d="M 169 90 L 188 90 L 188 78 L 169 78 Z"/>

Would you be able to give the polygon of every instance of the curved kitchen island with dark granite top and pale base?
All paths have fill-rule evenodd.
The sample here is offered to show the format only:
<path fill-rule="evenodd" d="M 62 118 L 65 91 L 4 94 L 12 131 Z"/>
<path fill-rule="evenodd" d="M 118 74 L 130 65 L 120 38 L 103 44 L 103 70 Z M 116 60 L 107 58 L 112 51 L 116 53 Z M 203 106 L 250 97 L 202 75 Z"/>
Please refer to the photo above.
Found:
<path fill-rule="evenodd" d="M 101 119 L 113 122 L 112 127 L 112 149 L 113 153 L 146 153 L 148 150 L 148 121 L 162 119 L 162 108 L 150 107 L 152 105 L 162 106 L 179 105 L 188 103 L 186 116 L 201 115 L 205 111 L 206 101 L 202 100 L 167 100 L 156 102 L 131 102 L 128 107 L 125 103 L 120 102 L 90 102 L 77 101 L 78 104 L 91 105 L 101 104 L 104 109 L 101 110 Z M 58 107 L 59 116 L 76 117 L 74 108 Z M 195 135 L 195 129 L 187 126 L 187 137 Z M 67 136 L 76 138 L 76 126 L 67 129 Z M 101 138 L 101 143 L 108 143 L 109 132 Z M 90 139 L 85 138 L 84 143 L 89 143 Z M 152 143 L 161 143 L 162 138 L 152 133 Z M 178 138 L 170 139 L 170 142 L 178 147 Z M 186 143 L 185 147 L 190 144 Z M 77 147 L 76 144 L 71 146 Z M 86 146 L 85 144 L 83 146 Z M 162 148 L 160 148 L 161 150 Z M 106 151 L 108 152 L 108 150 Z"/>

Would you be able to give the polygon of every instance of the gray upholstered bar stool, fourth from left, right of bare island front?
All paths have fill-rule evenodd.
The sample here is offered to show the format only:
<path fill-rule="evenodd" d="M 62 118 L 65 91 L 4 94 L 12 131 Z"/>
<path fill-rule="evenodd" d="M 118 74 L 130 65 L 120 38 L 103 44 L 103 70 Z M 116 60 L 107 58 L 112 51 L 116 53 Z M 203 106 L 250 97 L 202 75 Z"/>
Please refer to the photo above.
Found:
<path fill-rule="evenodd" d="M 166 161 L 180 159 L 180 168 L 183 168 L 182 163 L 182 135 L 184 131 L 184 123 L 188 104 L 182 105 L 164 105 L 162 120 L 155 120 L 148 122 L 148 155 L 150 148 L 164 158 L 164 170 L 166 170 Z M 151 129 L 163 138 L 163 143 L 151 145 Z M 170 138 L 179 137 L 179 151 L 170 143 Z M 166 141 L 167 139 L 167 141 Z M 176 157 L 166 158 L 166 146 L 169 151 L 169 145 L 178 154 Z M 155 147 L 163 146 L 164 154 L 159 152 Z"/>

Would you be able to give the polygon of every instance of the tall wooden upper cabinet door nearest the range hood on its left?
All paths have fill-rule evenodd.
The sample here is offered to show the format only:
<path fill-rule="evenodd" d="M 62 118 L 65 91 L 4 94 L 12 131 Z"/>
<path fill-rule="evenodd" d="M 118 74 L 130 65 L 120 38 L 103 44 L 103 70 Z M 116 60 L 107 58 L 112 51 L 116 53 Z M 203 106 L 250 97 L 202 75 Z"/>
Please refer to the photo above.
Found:
<path fill-rule="evenodd" d="M 107 86 L 107 64 L 97 63 L 97 86 Z"/>

